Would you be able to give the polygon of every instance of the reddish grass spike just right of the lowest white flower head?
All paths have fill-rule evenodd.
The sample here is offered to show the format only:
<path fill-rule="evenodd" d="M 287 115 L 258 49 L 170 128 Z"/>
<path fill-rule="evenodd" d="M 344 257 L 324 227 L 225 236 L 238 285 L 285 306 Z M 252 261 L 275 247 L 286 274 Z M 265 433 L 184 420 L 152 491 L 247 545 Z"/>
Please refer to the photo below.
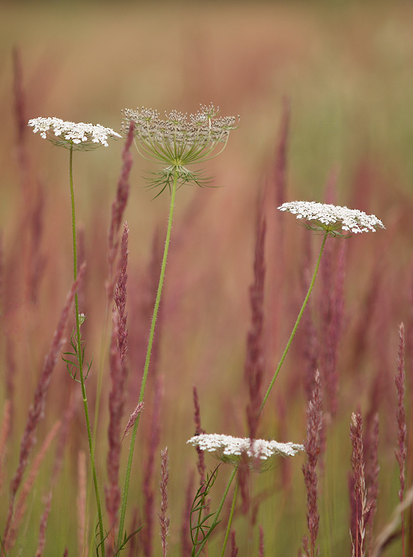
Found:
<path fill-rule="evenodd" d="M 307 407 L 307 437 L 304 442 L 307 453 L 307 462 L 302 465 L 305 487 L 307 488 L 307 526 L 309 530 L 310 551 L 307 547 L 307 538 L 303 540 L 305 554 L 316 555 L 316 540 L 320 515 L 318 513 L 318 478 L 317 463 L 321 451 L 321 427 L 323 426 L 323 395 L 321 393 L 320 372 L 314 375 L 314 391 Z"/>

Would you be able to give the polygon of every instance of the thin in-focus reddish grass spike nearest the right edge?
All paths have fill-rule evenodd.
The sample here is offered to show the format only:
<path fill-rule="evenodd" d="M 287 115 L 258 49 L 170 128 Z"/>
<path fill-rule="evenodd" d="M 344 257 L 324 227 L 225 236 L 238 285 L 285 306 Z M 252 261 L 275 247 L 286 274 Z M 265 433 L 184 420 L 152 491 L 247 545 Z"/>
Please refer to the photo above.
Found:
<path fill-rule="evenodd" d="M 405 326 L 403 323 L 399 327 L 399 343 L 397 355 L 397 372 L 396 372 L 396 389 L 397 389 L 397 407 L 396 407 L 396 422 L 397 422 L 397 443 L 396 459 L 400 469 L 400 489 L 398 497 L 400 503 L 403 503 L 403 495 L 405 492 L 405 463 L 407 456 L 406 447 L 406 414 L 405 414 Z M 405 556 L 405 521 L 404 512 L 401 513 L 401 535 L 403 557 Z"/>

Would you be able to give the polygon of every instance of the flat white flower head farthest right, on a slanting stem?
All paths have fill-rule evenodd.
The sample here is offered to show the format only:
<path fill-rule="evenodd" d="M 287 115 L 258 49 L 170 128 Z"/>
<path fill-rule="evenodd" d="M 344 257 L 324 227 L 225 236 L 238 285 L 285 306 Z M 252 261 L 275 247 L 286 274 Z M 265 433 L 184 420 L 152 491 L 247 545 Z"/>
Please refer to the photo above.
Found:
<path fill-rule="evenodd" d="M 278 207 L 280 211 L 289 211 L 297 215 L 297 219 L 305 219 L 311 230 L 329 233 L 333 236 L 346 237 L 344 233 L 358 234 L 375 232 L 377 228 L 385 228 L 374 214 L 366 214 L 358 209 L 348 209 L 315 201 L 291 201 Z M 343 231 L 343 232 L 341 232 Z"/>

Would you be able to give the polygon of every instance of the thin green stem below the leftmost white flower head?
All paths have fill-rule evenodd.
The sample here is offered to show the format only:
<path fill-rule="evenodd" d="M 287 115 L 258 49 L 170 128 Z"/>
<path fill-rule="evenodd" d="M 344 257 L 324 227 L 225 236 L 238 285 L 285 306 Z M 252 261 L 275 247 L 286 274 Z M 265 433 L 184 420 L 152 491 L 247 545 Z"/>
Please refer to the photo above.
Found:
<path fill-rule="evenodd" d="M 74 209 L 73 148 L 72 148 L 72 146 L 70 148 L 70 157 L 69 157 L 69 180 L 70 180 L 70 198 L 71 198 L 71 201 L 72 201 L 73 278 L 76 281 L 76 278 L 77 278 L 76 212 L 75 212 L 75 209 Z M 77 361 L 79 363 L 79 376 L 80 376 L 81 389 L 82 389 L 83 409 L 85 411 L 86 429 L 88 430 L 90 464 L 92 465 L 93 483 L 95 485 L 97 515 L 99 517 L 100 547 L 102 548 L 102 557 L 104 557 L 104 555 L 105 555 L 105 544 L 104 544 L 104 527 L 103 527 L 103 519 L 102 519 L 102 505 L 100 503 L 99 485 L 97 483 L 97 473 L 96 473 L 96 466 L 95 466 L 95 452 L 93 450 L 92 431 L 90 429 L 88 397 L 86 396 L 85 379 L 83 377 L 83 354 L 82 354 L 82 347 L 81 347 L 81 333 L 80 333 L 80 321 L 79 321 L 79 300 L 78 300 L 77 292 L 74 295 L 74 311 L 76 313 Z"/>

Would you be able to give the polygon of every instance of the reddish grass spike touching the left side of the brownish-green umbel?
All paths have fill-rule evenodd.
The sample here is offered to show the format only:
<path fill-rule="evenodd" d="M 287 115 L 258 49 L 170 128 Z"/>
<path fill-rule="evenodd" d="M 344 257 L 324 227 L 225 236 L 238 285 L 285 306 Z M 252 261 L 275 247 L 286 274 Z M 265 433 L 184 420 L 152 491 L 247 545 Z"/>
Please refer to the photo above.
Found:
<path fill-rule="evenodd" d="M 108 229 L 108 279 L 106 281 L 106 294 L 108 299 L 111 300 L 113 296 L 113 288 L 115 286 L 115 276 L 113 276 L 113 266 L 115 263 L 116 254 L 118 252 L 119 241 L 116 235 L 119 233 L 120 223 L 122 222 L 124 210 L 127 206 L 129 198 L 129 174 L 132 167 L 131 144 L 133 141 L 133 129 L 135 124 L 133 122 L 129 125 L 129 132 L 124 144 L 122 152 L 122 169 L 118 180 L 118 189 L 116 191 L 115 200 L 112 203 L 111 222 Z"/>

